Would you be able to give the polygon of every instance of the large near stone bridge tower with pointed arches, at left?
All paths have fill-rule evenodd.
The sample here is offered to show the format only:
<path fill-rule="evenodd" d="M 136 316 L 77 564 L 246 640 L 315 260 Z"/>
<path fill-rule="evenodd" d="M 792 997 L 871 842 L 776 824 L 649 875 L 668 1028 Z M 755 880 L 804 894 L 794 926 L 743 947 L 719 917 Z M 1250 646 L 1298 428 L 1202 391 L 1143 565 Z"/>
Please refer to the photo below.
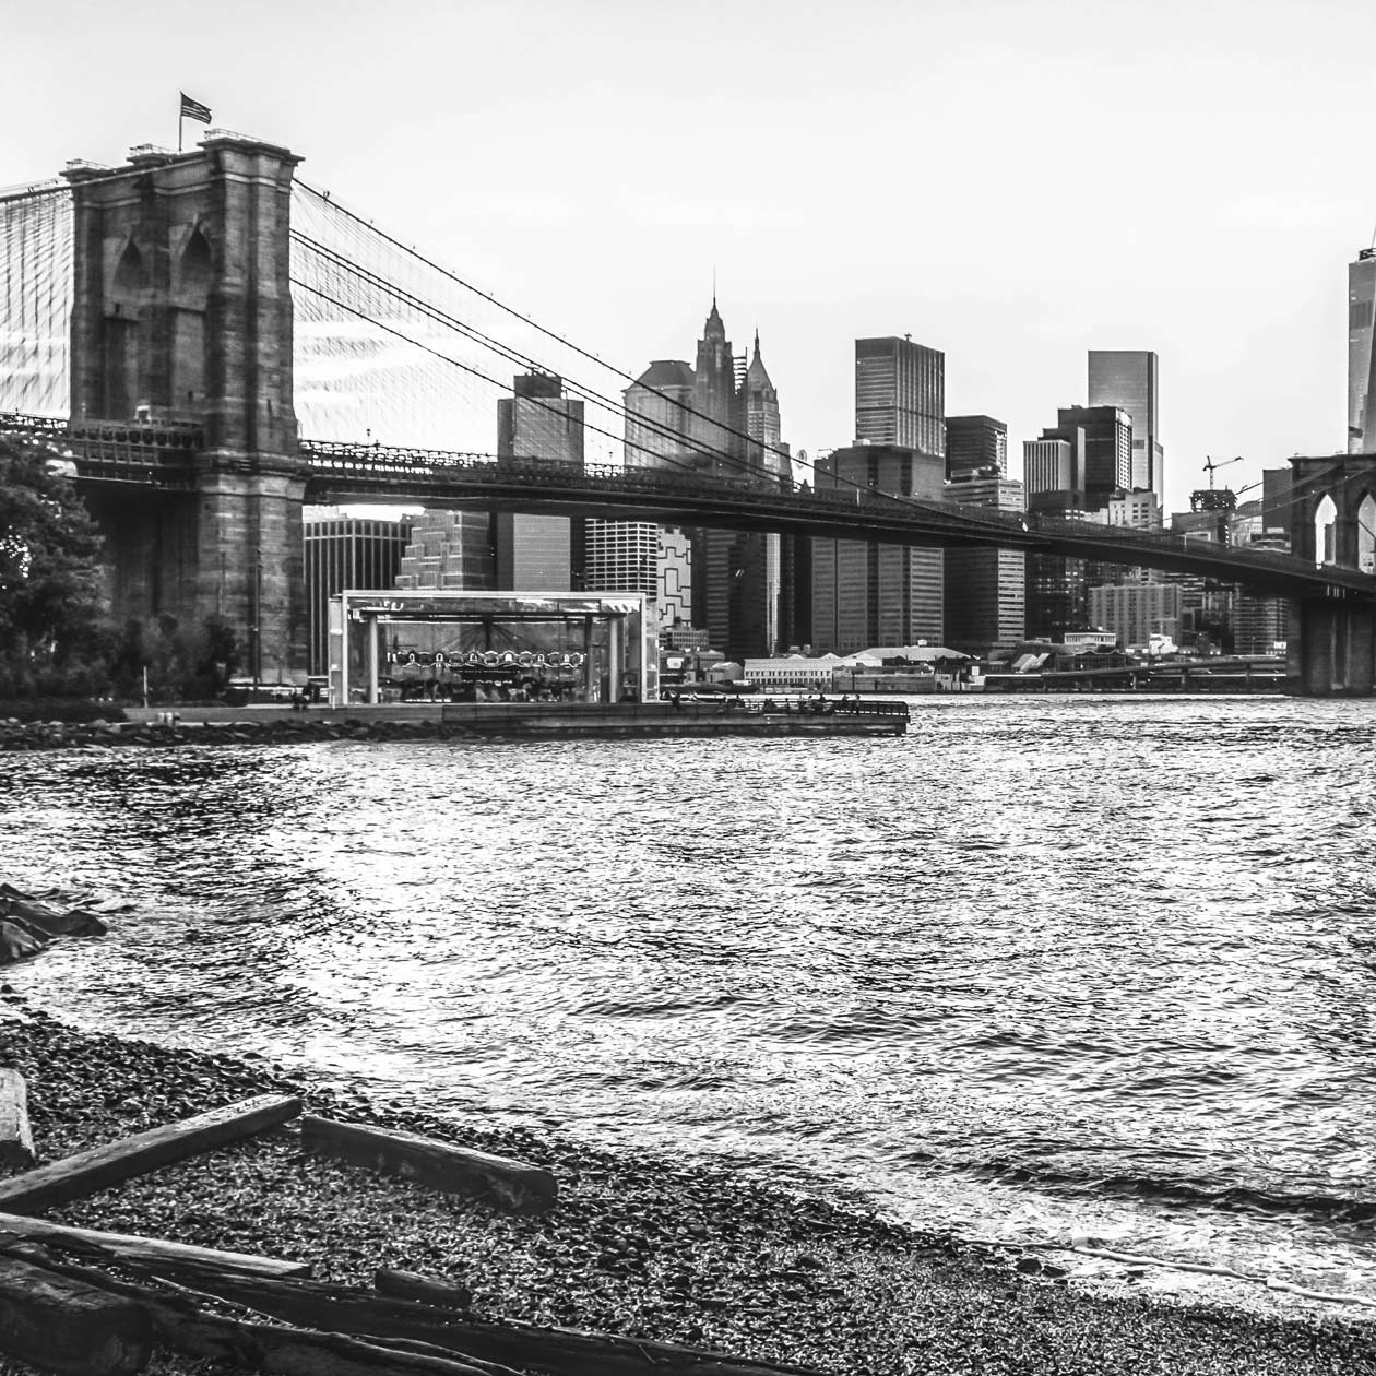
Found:
<path fill-rule="evenodd" d="M 69 168 L 72 425 L 131 428 L 186 457 L 172 490 L 91 484 L 127 618 L 211 616 L 239 671 L 305 673 L 304 471 L 292 405 L 286 149 L 215 133 Z"/>

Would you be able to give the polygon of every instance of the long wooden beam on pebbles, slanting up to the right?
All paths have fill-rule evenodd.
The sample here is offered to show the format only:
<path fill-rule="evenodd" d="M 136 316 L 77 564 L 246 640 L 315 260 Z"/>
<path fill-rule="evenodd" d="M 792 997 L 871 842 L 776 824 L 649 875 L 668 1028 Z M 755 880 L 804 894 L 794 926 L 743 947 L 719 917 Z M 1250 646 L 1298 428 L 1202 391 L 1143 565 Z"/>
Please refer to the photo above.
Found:
<path fill-rule="evenodd" d="M 63 1157 L 36 1171 L 0 1181 L 0 1210 L 41 1214 L 70 1200 L 95 1194 L 133 1175 L 209 1152 L 275 1127 L 301 1112 L 301 1101 L 285 1094 L 260 1094 L 195 1117 L 150 1128 L 133 1137 Z"/>

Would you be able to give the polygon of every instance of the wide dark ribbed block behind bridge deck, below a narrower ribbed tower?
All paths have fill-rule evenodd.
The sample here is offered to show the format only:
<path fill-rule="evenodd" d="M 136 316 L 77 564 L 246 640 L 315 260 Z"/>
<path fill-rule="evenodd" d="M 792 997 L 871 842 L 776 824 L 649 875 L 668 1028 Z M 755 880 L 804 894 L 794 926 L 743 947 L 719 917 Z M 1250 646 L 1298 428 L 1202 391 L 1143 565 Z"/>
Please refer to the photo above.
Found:
<path fill-rule="evenodd" d="M 904 444 L 854 444 L 820 458 L 817 491 L 872 488 L 941 501 L 945 461 Z M 863 539 L 812 542 L 812 645 L 852 654 L 870 645 L 940 644 L 943 550 Z"/>

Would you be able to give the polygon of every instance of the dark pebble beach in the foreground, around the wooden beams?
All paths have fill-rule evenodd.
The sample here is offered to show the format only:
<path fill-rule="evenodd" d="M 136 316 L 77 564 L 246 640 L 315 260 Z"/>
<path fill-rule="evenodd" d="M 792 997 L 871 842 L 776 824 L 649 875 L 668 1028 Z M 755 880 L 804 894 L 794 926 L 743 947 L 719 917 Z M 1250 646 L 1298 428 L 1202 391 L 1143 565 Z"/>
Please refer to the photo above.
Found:
<path fill-rule="evenodd" d="M 56 1222 L 310 1262 L 369 1284 L 450 1278 L 491 1320 L 599 1329 L 832 1376 L 1373 1373 L 1372 1329 L 1088 1296 L 1058 1267 L 921 1234 L 710 1167 L 589 1150 L 374 1106 L 278 1066 L 67 1026 L 0 987 L 0 1064 L 29 1084 L 41 1160 L 260 1093 L 312 1113 L 515 1156 L 559 1178 L 546 1214 L 497 1212 L 304 1156 L 292 1126 L 66 1205 Z M 26 1370 L 0 1362 L 3 1376 Z M 227 1370 L 160 1354 L 150 1370 Z"/>

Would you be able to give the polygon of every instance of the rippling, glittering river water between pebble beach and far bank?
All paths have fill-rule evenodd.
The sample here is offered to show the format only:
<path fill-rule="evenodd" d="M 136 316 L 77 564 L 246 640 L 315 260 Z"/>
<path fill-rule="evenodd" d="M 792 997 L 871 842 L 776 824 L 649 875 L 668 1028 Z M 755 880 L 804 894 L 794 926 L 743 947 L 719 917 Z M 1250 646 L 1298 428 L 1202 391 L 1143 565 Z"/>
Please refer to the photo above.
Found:
<path fill-rule="evenodd" d="M 1369 703 L 1039 696 L 11 755 L 0 877 L 136 905 L 17 971 L 81 1025 L 1376 1300 L 1373 743 Z"/>

